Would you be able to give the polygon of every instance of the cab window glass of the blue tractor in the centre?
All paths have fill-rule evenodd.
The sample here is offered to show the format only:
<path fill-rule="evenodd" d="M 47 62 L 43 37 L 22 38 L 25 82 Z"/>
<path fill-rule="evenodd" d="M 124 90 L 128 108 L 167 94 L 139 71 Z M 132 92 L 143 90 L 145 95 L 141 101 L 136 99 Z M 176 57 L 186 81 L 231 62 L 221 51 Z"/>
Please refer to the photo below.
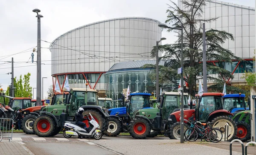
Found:
<path fill-rule="evenodd" d="M 130 103 L 130 113 L 133 113 L 135 110 L 140 110 L 144 107 L 150 107 L 149 96 L 131 96 Z"/>

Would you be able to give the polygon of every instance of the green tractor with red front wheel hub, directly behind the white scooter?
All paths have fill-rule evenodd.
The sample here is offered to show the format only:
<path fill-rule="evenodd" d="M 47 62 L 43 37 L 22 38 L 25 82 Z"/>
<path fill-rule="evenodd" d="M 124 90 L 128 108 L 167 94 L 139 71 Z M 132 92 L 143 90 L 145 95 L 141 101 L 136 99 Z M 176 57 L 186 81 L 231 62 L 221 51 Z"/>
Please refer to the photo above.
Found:
<path fill-rule="evenodd" d="M 33 132 L 39 137 L 57 135 L 63 129 L 65 121 L 74 121 L 79 107 L 84 108 L 83 115 L 90 113 L 93 116 L 100 126 L 99 130 L 106 131 L 109 115 L 106 109 L 98 106 L 97 93 L 93 89 L 71 88 L 68 95 L 63 95 L 62 104 L 41 107 L 40 115 L 35 118 L 33 123 Z M 67 99 L 65 99 L 66 97 Z M 84 123 L 88 126 L 87 120 Z"/>

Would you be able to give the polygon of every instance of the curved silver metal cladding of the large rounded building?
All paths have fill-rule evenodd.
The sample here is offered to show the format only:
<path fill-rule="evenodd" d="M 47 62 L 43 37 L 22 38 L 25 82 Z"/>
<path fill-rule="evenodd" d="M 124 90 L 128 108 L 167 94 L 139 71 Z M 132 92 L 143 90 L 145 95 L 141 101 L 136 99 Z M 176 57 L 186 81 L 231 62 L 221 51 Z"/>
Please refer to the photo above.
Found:
<path fill-rule="evenodd" d="M 161 38 L 158 23 L 145 17 L 124 17 L 70 30 L 50 45 L 52 75 L 106 72 L 116 62 L 148 59 L 153 45 L 147 42 Z"/>

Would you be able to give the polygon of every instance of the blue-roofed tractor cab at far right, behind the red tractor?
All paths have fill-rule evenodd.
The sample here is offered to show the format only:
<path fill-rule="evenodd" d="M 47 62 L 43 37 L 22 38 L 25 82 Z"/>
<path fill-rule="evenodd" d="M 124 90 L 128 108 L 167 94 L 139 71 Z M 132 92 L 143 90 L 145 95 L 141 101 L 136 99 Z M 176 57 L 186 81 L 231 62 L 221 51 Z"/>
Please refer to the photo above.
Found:
<path fill-rule="evenodd" d="M 230 113 L 235 113 L 237 111 L 249 110 L 246 107 L 244 101 L 245 94 L 227 94 L 223 97 L 223 107 L 225 110 L 230 111 Z"/>

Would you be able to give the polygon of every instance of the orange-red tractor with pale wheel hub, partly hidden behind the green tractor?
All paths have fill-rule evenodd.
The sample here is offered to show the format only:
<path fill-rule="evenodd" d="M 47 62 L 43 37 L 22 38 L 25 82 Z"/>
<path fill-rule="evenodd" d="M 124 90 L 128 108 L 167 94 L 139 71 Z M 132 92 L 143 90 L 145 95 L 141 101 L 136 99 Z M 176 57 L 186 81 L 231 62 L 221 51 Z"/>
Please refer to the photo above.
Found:
<path fill-rule="evenodd" d="M 65 93 L 64 99 L 67 99 L 68 92 Z M 63 99 L 63 93 L 54 93 L 52 97 L 52 103 L 50 105 L 58 105 L 62 104 L 62 99 Z M 41 102 L 42 104 L 40 106 L 33 106 L 26 108 L 22 111 L 24 118 L 21 120 L 21 128 L 23 132 L 26 134 L 34 134 L 33 129 L 32 129 L 32 124 L 33 121 L 37 116 L 40 114 L 41 107 L 44 107 L 44 100 Z"/>

